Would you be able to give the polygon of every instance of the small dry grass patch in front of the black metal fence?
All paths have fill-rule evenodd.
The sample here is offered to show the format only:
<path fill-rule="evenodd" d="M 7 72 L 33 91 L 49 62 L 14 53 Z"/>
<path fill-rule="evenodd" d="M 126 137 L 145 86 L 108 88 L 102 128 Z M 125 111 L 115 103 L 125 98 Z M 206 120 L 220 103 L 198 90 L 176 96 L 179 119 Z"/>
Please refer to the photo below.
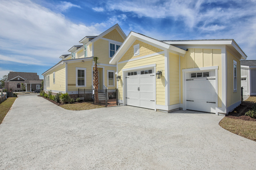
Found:
<path fill-rule="evenodd" d="M 90 109 L 101 108 L 103 106 L 93 105 L 90 103 L 73 103 L 73 104 L 60 105 L 60 107 L 67 110 L 90 110 Z"/>

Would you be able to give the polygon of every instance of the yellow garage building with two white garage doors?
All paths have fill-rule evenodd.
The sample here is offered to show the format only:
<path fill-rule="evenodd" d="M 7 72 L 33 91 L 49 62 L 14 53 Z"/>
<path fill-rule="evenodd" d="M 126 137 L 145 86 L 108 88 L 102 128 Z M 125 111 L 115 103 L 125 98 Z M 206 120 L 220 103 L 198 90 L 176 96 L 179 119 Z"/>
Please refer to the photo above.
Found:
<path fill-rule="evenodd" d="M 131 32 L 109 63 L 117 64 L 122 105 L 225 115 L 241 104 L 246 58 L 233 39 L 158 41 Z"/>

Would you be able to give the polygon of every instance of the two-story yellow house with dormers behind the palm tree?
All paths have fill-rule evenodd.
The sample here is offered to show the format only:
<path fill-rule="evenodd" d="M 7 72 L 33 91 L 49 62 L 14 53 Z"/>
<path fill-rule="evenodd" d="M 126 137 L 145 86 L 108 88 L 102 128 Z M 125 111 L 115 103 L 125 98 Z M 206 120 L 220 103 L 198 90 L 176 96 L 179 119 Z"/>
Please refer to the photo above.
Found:
<path fill-rule="evenodd" d="M 77 94 L 78 89 L 93 89 L 92 57 L 99 57 L 99 89 L 116 88 L 116 63 L 109 60 L 120 47 L 126 35 L 118 24 L 98 36 L 86 36 L 68 50 L 70 54 L 61 55 L 61 61 L 45 71 L 44 90 Z"/>

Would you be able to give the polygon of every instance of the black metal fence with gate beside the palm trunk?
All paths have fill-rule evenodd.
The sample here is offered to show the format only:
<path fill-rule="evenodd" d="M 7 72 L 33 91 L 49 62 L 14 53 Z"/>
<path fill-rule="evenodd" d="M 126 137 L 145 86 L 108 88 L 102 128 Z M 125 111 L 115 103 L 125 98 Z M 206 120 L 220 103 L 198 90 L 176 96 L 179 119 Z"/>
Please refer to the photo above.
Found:
<path fill-rule="evenodd" d="M 85 102 L 100 106 L 117 106 L 117 89 L 93 90 L 78 89 L 78 97 Z"/>

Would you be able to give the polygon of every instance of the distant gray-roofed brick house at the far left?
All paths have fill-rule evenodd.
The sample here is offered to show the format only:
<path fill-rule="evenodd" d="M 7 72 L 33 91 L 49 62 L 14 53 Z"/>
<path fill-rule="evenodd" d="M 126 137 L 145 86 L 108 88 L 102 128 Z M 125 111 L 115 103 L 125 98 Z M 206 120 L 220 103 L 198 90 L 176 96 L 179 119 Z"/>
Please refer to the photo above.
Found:
<path fill-rule="evenodd" d="M 28 72 L 13 72 L 11 71 L 8 74 L 7 81 L 5 81 L 5 88 L 12 91 L 22 91 L 21 83 L 26 86 L 26 92 L 31 92 L 33 89 L 34 91 L 40 91 L 41 82 L 43 80 L 39 79 L 37 73 L 28 73 Z"/>

